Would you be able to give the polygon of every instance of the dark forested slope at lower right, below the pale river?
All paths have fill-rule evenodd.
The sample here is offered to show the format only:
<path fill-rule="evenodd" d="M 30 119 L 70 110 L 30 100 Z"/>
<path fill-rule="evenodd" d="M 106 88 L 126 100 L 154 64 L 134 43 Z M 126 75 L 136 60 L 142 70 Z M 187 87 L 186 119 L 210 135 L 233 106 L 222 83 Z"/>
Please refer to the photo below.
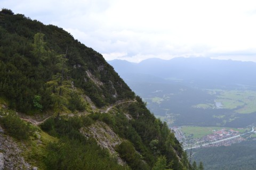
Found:
<path fill-rule="evenodd" d="M 209 170 L 252 170 L 256 168 L 255 151 L 255 140 L 249 140 L 231 146 L 194 149 L 193 159 L 203 161 Z"/>

